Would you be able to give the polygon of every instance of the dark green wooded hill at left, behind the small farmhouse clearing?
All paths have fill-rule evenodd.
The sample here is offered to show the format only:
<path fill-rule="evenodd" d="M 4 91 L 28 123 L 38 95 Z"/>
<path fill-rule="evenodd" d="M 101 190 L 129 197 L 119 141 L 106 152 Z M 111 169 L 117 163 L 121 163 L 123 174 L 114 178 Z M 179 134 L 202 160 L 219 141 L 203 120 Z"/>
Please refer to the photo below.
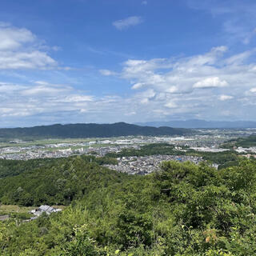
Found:
<path fill-rule="evenodd" d="M 22 167 L 17 170 L 18 163 L 21 162 L 7 162 L 10 176 L 0 179 L 0 200 L 3 204 L 68 205 L 89 190 L 94 190 L 103 183 L 104 186 L 108 186 L 113 180 L 121 181 L 122 176 L 125 176 L 99 166 L 115 163 L 116 160 L 111 158 L 79 156 L 36 159 L 22 162 Z"/>

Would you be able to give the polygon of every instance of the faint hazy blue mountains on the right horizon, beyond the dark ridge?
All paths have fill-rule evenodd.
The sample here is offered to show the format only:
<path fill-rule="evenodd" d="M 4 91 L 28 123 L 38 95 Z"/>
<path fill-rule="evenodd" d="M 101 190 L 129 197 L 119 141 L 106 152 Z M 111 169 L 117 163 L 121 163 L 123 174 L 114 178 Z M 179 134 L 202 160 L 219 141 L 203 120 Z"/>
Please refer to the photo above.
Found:
<path fill-rule="evenodd" d="M 256 122 L 254 121 L 205 121 L 199 119 L 191 119 L 186 121 L 170 121 L 170 122 L 140 122 L 136 123 L 139 126 L 169 126 L 169 127 L 179 127 L 179 128 L 256 128 Z"/>

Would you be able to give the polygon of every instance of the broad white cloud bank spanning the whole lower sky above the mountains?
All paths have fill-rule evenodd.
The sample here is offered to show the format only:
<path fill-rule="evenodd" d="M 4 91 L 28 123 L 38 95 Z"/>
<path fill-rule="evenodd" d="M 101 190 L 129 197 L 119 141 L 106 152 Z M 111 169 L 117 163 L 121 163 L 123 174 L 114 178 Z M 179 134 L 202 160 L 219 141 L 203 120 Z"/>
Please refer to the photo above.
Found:
<path fill-rule="evenodd" d="M 81 87 L 76 90 L 44 81 L 30 85 L 2 82 L 0 121 L 2 126 L 6 120 L 19 117 L 22 122 L 24 118 L 41 123 L 67 122 L 68 116 L 68 122 L 144 122 L 227 119 L 227 113 L 229 118 L 256 118 L 253 56 L 254 51 L 230 56 L 226 47 L 220 46 L 190 57 L 130 59 L 120 72 L 103 72 L 130 84 L 133 90 L 122 97 L 96 96 Z"/>

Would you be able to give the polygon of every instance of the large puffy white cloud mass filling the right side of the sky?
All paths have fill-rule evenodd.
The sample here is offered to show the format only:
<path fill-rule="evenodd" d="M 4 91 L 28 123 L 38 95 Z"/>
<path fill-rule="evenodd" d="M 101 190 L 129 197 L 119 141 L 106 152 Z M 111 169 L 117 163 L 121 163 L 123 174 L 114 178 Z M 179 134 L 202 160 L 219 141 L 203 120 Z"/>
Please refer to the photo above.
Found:
<path fill-rule="evenodd" d="M 243 119 L 244 112 L 255 116 L 251 108 L 246 110 L 248 102 L 256 100 L 252 56 L 254 50 L 230 56 L 226 46 L 218 46 L 191 57 L 129 59 L 115 75 L 130 82 L 134 95 L 129 104 L 136 113 L 143 113 L 143 119 L 198 115 L 216 119 L 224 116 L 223 107 Z M 246 92 L 250 92 L 250 101 L 245 100 Z"/>

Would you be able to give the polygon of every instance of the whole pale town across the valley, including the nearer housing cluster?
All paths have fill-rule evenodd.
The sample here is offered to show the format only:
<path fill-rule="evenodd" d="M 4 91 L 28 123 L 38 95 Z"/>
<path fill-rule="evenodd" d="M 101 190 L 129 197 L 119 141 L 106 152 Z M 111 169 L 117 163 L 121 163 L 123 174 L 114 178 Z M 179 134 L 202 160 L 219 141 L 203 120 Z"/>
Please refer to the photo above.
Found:
<path fill-rule="evenodd" d="M 194 130 L 185 136 L 128 136 L 118 138 L 42 139 L 24 141 L 21 139 L 0 142 L 0 158 L 29 160 L 35 158 L 66 158 L 72 155 L 113 156 L 116 162 L 105 166 L 128 174 L 150 174 L 158 170 L 163 161 L 204 161 L 202 153 L 234 151 L 244 158 L 256 157 L 256 147 L 225 148 L 223 144 L 236 138 L 247 138 L 255 129 L 244 130 Z M 170 145 L 167 154 L 122 155 L 123 150 L 138 152 L 146 145 Z M 190 154 L 187 154 L 190 152 Z M 192 153 L 191 153 L 192 152 Z M 212 163 L 218 168 L 217 163 Z"/>

